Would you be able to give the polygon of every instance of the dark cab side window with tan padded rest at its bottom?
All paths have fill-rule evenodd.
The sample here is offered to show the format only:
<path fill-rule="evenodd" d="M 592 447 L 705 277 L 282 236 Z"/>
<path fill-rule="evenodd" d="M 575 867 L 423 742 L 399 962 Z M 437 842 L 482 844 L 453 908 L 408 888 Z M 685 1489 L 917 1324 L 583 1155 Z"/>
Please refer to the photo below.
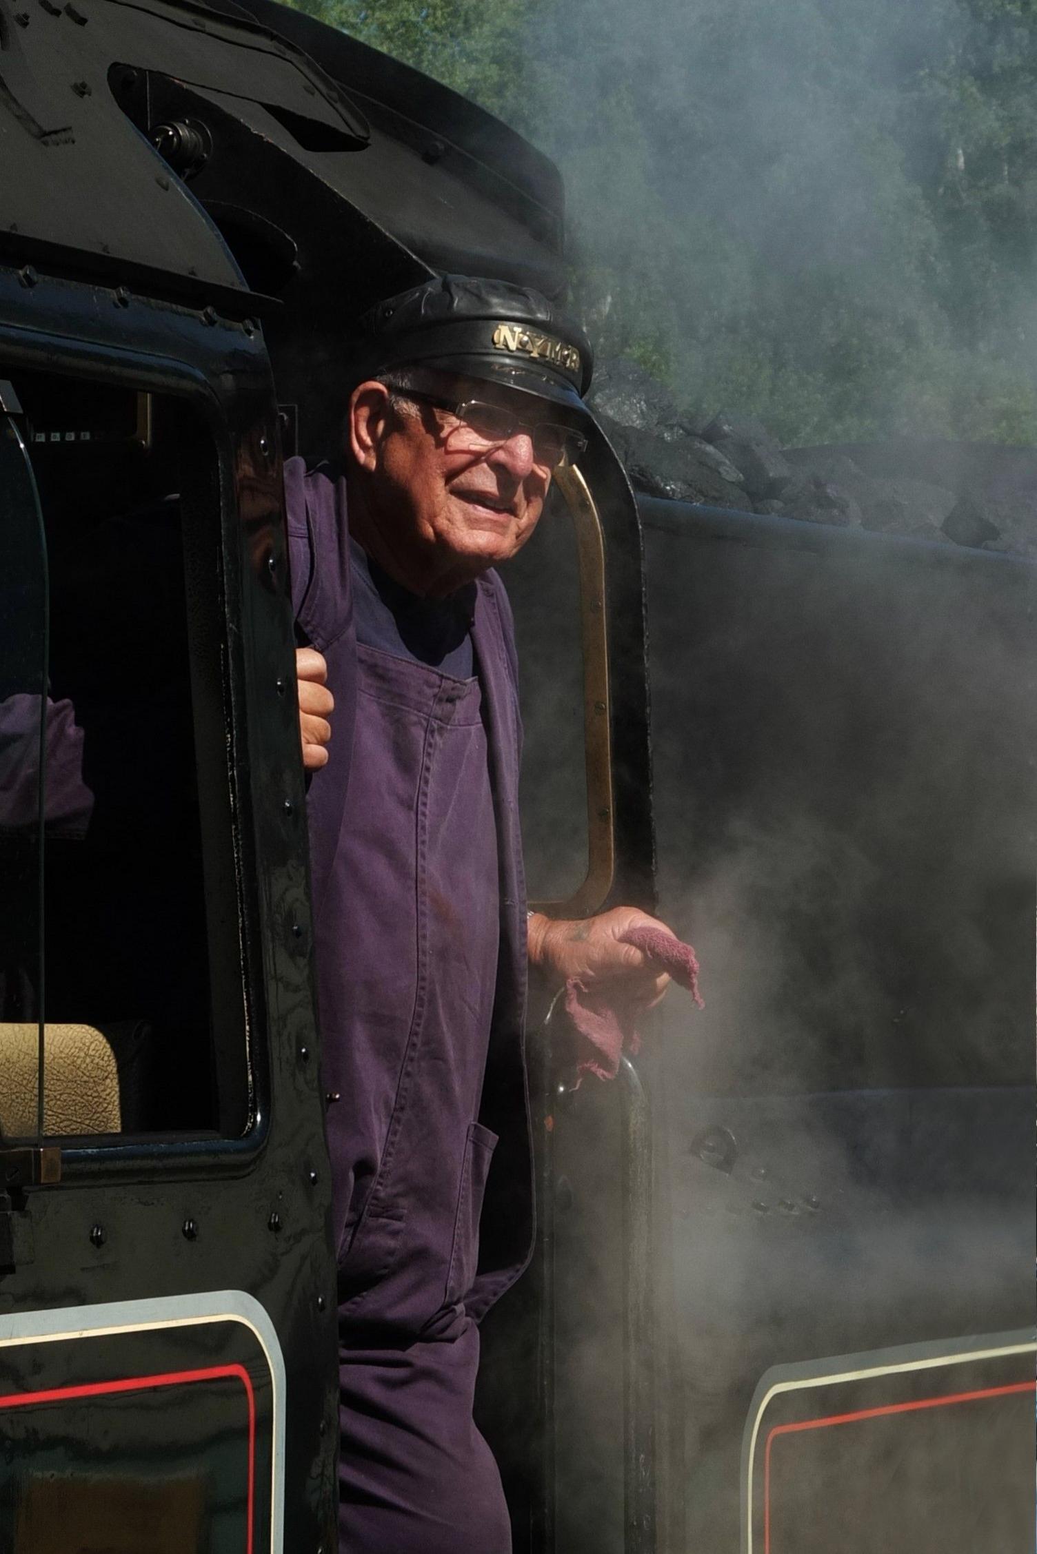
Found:
<path fill-rule="evenodd" d="M 174 398 L 0 368 L 3 376 L 22 407 L 50 577 L 36 556 L 20 608 L 5 611 L 0 662 L 8 715 L 36 674 L 45 757 L 40 825 L 40 813 L 22 814 L 33 780 L 23 718 L 20 754 L 11 735 L 5 744 L 5 771 L 17 755 L 19 777 L 0 789 L 0 836 L 23 855 L 2 926 L 0 1127 L 36 1131 L 34 1078 L 31 1105 L 19 1082 L 30 1072 L 19 1027 L 34 1018 L 47 1136 L 239 1136 L 252 1097 L 215 446 Z M 25 549 L 30 519 L 20 530 L 12 519 L 8 511 Z M 42 839 L 42 963 L 33 839 Z M 8 988 L 22 990 L 20 1002 Z"/>

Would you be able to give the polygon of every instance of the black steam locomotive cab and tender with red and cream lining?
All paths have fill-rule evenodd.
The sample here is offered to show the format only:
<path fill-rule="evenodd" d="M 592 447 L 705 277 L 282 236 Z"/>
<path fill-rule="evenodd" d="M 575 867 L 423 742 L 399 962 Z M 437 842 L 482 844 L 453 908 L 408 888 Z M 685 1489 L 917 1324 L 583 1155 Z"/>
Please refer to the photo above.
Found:
<path fill-rule="evenodd" d="M 0 1543 L 326 1554 L 350 1097 L 320 1083 L 281 462 L 334 446 L 379 297 L 557 295 L 561 190 L 272 0 L 25 17 Z M 515 1548 L 1021 1546 L 1032 570 L 637 503 L 602 432 L 552 503 L 507 578 L 530 897 L 658 901 L 707 1007 L 577 1091 L 533 1005 L 539 1242 L 479 1397 Z"/>

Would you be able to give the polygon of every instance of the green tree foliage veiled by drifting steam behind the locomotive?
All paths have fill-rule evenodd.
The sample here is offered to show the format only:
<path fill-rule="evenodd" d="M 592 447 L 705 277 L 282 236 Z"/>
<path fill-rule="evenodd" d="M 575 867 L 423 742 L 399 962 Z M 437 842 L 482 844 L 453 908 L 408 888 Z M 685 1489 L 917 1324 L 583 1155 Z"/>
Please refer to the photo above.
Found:
<path fill-rule="evenodd" d="M 788 441 L 1037 441 L 1034 0 L 302 0 L 560 163 L 605 353 Z"/>

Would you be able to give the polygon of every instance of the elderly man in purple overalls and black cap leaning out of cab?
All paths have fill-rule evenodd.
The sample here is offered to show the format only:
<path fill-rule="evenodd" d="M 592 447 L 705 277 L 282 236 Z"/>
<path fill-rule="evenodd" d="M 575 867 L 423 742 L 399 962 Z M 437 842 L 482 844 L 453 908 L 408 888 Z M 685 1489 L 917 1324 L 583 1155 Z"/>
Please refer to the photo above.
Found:
<path fill-rule="evenodd" d="M 342 1554 L 505 1554 L 473 1423 L 479 1319 L 532 1242 L 527 959 L 665 985 L 525 911 L 515 642 L 493 570 L 578 457 L 586 340 L 535 292 L 437 278 L 367 320 L 336 463 L 285 471 L 339 1253 Z M 325 684 L 326 679 L 326 684 Z M 330 738 L 334 707 L 334 738 Z"/>

